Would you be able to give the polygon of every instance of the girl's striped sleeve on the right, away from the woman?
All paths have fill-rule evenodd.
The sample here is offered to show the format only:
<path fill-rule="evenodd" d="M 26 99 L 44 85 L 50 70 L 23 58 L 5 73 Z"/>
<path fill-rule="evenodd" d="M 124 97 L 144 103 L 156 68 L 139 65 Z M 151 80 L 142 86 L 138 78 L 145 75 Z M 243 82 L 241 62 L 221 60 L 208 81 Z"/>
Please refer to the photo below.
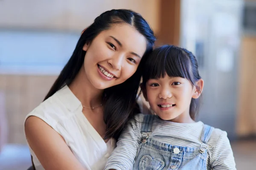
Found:
<path fill-rule="evenodd" d="M 236 163 L 227 132 L 221 133 L 213 148 L 210 164 L 213 170 L 236 170 Z"/>

